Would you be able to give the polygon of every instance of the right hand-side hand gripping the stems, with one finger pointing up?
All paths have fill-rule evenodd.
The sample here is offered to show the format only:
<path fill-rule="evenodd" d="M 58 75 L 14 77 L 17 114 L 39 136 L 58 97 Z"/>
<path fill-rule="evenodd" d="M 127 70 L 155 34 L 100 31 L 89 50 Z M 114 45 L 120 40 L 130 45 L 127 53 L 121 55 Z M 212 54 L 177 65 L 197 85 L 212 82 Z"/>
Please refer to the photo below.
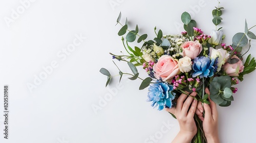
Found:
<path fill-rule="evenodd" d="M 208 88 L 205 89 L 205 93 L 210 95 Z M 208 143 L 220 142 L 218 134 L 218 110 L 216 103 L 208 97 L 210 104 L 198 102 L 196 114 L 203 121 L 203 130 Z M 205 115 L 203 117 L 203 110 Z"/>

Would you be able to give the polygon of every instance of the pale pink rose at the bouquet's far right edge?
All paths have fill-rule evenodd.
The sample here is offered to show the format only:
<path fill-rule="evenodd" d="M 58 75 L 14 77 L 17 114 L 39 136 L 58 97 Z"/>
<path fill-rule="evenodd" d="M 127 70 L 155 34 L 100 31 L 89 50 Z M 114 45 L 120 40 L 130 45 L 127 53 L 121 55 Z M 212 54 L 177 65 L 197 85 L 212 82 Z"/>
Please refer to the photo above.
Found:
<path fill-rule="evenodd" d="M 237 58 L 239 59 L 236 55 L 232 56 L 232 59 L 233 58 Z M 226 74 L 228 76 L 231 76 L 231 77 L 238 77 L 239 74 L 241 72 L 244 71 L 244 64 L 243 62 L 239 59 L 239 61 L 237 63 L 234 63 L 234 64 L 229 64 L 229 63 L 225 63 L 223 66 L 222 66 L 223 70 L 226 72 Z"/>

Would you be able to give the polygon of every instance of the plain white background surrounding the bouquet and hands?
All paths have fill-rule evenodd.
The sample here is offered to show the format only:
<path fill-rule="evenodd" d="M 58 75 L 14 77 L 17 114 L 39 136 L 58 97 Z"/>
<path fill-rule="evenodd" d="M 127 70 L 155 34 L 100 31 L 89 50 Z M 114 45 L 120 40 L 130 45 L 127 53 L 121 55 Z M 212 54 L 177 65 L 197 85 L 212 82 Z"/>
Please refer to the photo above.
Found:
<path fill-rule="evenodd" d="M 105 67 L 118 75 L 109 52 L 124 52 L 117 35 L 121 26 L 115 26 L 120 11 L 121 22 L 127 17 L 129 28 L 133 30 L 138 24 L 139 33 L 147 33 L 148 39 L 154 38 L 155 26 L 164 34 L 183 31 L 177 25 L 184 11 L 190 12 L 205 34 L 210 34 L 215 29 L 211 11 L 218 6 L 217 1 L 37 0 L 27 1 L 26 8 L 21 2 L 0 2 L 0 142 L 172 141 L 179 131 L 178 122 L 145 101 L 147 89 L 138 90 L 141 81 L 123 78 L 119 84 L 116 76 L 105 88 L 106 77 L 99 69 Z M 234 34 L 244 31 L 245 18 L 248 27 L 256 24 L 254 3 L 221 1 L 220 6 L 225 8 L 221 24 L 224 42 L 230 44 Z M 77 39 L 75 35 L 86 39 L 76 41 L 79 45 L 65 59 L 59 57 Z M 256 42 L 251 44 L 250 53 L 255 57 Z M 52 62 L 56 65 L 50 70 Z M 125 63 L 115 62 L 130 72 Z M 43 67 L 49 74 L 38 81 L 37 77 L 45 72 Z M 244 77 L 231 106 L 218 108 L 221 142 L 256 142 L 255 76 L 254 72 Z M 4 139 L 3 134 L 5 84 L 10 92 L 9 139 Z M 33 88 L 29 89 L 28 84 Z"/>

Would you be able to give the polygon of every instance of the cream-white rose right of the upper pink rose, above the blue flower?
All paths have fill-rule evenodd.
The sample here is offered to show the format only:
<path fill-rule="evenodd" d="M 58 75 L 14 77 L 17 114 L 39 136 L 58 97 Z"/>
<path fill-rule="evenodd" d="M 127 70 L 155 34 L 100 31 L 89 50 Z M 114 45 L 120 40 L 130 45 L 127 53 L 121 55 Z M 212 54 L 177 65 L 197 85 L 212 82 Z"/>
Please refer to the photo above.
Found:
<path fill-rule="evenodd" d="M 226 50 L 222 48 L 216 50 L 213 47 L 210 47 L 210 58 L 216 59 L 217 57 L 219 57 L 218 63 L 217 63 L 217 66 L 218 66 L 217 71 L 220 71 L 221 66 L 226 63 L 226 60 L 228 59 L 229 54 L 227 53 Z"/>

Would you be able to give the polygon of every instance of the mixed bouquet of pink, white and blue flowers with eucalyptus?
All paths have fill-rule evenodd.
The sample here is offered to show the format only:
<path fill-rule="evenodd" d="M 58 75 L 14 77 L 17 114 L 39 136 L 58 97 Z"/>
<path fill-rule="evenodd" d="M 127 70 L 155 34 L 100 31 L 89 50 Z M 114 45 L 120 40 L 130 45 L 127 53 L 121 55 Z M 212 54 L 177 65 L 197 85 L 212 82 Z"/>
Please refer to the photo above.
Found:
<path fill-rule="evenodd" d="M 155 27 L 156 37 L 153 40 L 146 40 L 147 34 L 139 35 L 138 25 L 135 30 L 129 30 L 127 19 L 122 25 L 120 13 L 117 18 L 117 24 L 121 25 L 118 35 L 126 34 L 125 38 L 122 37 L 122 42 L 127 55 L 110 54 L 113 59 L 127 62 L 132 70 L 132 73 L 123 73 L 117 67 L 120 80 L 123 75 L 130 75 L 130 80 L 142 80 L 139 89 L 149 86 L 147 101 L 152 102 L 152 106 L 158 107 L 158 110 L 175 107 L 181 93 L 189 96 L 188 93 L 197 92 L 197 96 L 193 98 L 209 104 L 206 87 L 210 90 L 212 101 L 220 106 L 229 106 L 233 101 L 232 94 L 238 90 L 233 85 L 243 81 L 244 75 L 255 70 L 255 59 L 248 55 L 243 62 L 243 57 L 250 49 L 250 40 L 256 39 L 256 36 L 250 31 L 255 26 L 248 28 L 245 21 L 244 32 L 235 34 L 231 44 L 222 43 L 225 35 L 222 28 L 217 29 L 222 21 L 222 9 L 216 7 L 212 11 L 212 22 L 216 30 L 212 30 L 210 35 L 197 28 L 197 22 L 191 19 L 189 13 L 184 12 L 181 14 L 184 32 L 163 35 Z M 143 41 L 143 44 L 132 48 L 129 42 L 136 39 L 138 43 Z M 247 52 L 242 54 L 243 49 L 247 49 Z M 141 79 L 137 67 L 142 67 L 148 77 Z M 107 86 L 112 76 L 105 68 L 101 68 L 100 72 L 108 77 Z M 192 142 L 207 142 L 202 122 L 197 115 L 195 121 L 198 133 Z"/>

